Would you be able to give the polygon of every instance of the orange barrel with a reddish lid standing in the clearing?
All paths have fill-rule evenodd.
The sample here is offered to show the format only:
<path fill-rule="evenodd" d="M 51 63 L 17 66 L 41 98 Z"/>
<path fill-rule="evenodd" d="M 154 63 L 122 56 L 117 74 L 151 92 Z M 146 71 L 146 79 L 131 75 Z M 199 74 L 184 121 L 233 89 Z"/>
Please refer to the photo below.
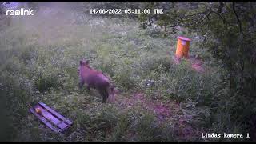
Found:
<path fill-rule="evenodd" d="M 176 56 L 178 58 L 188 57 L 190 49 L 190 38 L 178 37 Z"/>

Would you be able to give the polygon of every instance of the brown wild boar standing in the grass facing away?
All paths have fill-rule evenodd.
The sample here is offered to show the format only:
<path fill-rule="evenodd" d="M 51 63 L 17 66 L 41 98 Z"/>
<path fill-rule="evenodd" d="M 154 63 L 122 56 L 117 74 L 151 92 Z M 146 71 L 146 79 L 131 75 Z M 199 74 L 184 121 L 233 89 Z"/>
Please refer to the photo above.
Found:
<path fill-rule="evenodd" d="M 80 66 L 78 67 L 79 74 L 79 89 L 82 89 L 82 86 L 86 84 L 87 89 L 90 90 L 90 87 L 98 90 L 102 95 L 102 103 L 114 102 L 115 91 L 114 86 L 108 78 L 101 71 L 94 70 L 89 66 L 89 60 L 81 60 Z"/>

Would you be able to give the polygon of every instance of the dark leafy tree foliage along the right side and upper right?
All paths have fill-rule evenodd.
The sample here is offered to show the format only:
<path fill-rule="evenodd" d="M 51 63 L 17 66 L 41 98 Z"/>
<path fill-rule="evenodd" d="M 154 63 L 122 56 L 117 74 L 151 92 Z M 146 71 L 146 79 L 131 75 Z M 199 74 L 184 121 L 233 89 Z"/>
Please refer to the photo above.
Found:
<path fill-rule="evenodd" d="M 150 4 L 164 6 L 165 2 Z M 227 78 L 222 78 L 223 82 L 229 82 L 225 88 L 229 90 L 229 97 L 222 98 L 222 102 L 229 103 L 225 107 L 226 113 L 230 114 L 231 122 L 245 123 L 246 126 L 255 113 L 255 4 L 170 2 L 165 14 L 143 15 L 141 18 L 146 22 L 154 17 L 158 26 L 182 26 L 202 37 L 201 47 L 206 47 L 226 70 L 224 77 Z"/>

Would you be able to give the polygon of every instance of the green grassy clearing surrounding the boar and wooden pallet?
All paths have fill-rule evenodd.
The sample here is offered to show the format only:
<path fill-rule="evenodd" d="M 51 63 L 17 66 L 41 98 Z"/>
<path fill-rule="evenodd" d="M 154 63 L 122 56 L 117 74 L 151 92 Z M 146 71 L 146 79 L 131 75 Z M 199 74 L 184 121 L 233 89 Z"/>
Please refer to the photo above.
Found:
<path fill-rule="evenodd" d="M 200 131 L 211 124 L 210 106 L 222 90 L 221 75 L 207 63 L 204 74 L 192 70 L 186 60 L 176 66 L 170 54 L 177 35 L 161 38 L 141 30 L 134 20 L 62 9 L 12 18 L 0 33 L 1 102 L 6 102 L 3 111 L 8 114 L 2 120 L 2 141 L 204 141 Z M 191 50 L 200 54 L 194 44 Z M 113 79 L 119 91 L 113 105 L 102 104 L 96 90 L 78 91 L 82 58 Z M 148 80 L 154 84 L 146 85 Z M 66 134 L 54 134 L 28 112 L 37 102 L 74 120 L 74 126 Z M 170 112 L 161 121 L 154 107 L 159 103 Z"/>

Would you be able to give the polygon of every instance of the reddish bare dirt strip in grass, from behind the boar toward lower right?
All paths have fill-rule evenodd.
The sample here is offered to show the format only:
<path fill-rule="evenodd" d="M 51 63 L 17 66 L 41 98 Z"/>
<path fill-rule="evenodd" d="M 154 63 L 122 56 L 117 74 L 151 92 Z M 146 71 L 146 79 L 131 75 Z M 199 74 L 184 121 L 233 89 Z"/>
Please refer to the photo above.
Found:
<path fill-rule="evenodd" d="M 137 106 L 142 110 L 152 111 L 157 116 L 158 122 L 173 125 L 174 134 L 178 138 L 189 140 L 201 134 L 199 130 L 195 130 L 190 126 L 188 117 L 181 114 L 182 108 L 178 102 L 170 101 L 162 103 L 158 100 L 146 98 L 145 94 L 135 93 L 130 98 L 118 97 L 116 103 L 122 110 Z"/>

